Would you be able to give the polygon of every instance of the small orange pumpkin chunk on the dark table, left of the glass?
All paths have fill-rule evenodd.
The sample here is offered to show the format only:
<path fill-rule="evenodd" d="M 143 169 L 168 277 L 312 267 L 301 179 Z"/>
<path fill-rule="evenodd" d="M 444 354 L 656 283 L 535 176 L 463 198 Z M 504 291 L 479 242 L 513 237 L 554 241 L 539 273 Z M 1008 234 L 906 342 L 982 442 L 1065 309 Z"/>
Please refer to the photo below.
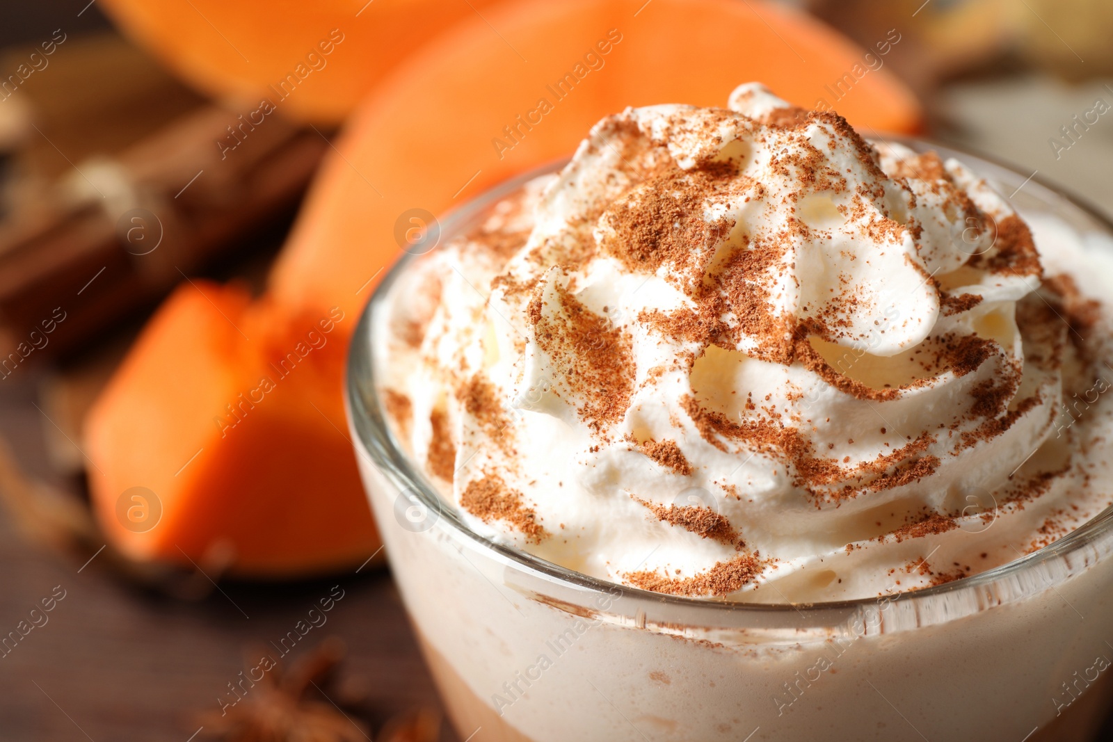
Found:
<path fill-rule="evenodd" d="M 250 577 L 371 556 L 378 536 L 338 388 L 352 323 L 205 281 L 167 299 L 87 422 L 93 502 L 114 543 Z"/>

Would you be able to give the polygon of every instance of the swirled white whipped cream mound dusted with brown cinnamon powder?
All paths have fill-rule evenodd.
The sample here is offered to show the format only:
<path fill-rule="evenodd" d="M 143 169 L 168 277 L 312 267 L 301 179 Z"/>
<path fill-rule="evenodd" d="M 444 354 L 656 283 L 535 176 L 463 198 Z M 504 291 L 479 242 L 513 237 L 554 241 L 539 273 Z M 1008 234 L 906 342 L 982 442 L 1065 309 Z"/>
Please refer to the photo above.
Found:
<path fill-rule="evenodd" d="M 944 537 L 1012 560 L 1064 507 L 1064 385 L 1109 357 L 984 179 L 757 83 L 604 118 L 412 276 L 390 394 L 445 496 L 674 594 L 874 594 Z"/>

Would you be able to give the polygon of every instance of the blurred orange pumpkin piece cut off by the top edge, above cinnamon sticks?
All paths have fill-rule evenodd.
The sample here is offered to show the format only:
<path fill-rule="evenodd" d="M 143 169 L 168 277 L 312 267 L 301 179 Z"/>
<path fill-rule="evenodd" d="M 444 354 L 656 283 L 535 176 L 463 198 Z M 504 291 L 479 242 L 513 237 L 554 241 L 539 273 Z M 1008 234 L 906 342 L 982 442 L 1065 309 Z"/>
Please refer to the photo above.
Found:
<path fill-rule="evenodd" d="M 494 0 L 102 0 L 187 82 L 253 109 L 339 123 L 414 49 Z"/>

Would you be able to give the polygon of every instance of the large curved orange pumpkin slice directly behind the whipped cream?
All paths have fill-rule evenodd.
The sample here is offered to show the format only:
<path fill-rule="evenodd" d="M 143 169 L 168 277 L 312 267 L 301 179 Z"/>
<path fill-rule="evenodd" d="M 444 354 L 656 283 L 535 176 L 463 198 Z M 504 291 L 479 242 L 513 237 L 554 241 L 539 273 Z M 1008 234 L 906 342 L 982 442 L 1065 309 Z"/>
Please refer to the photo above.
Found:
<path fill-rule="evenodd" d="M 401 254 L 405 211 L 441 214 L 571 155 L 627 106 L 726 106 L 737 85 L 759 80 L 866 136 L 920 121 L 912 93 L 885 67 L 870 70 L 863 49 L 758 0 L 531 1 L 485 16 L 413 58 L 348 123 L 274 270 L 280 303 L 356 311 L 361 285 Z"/>

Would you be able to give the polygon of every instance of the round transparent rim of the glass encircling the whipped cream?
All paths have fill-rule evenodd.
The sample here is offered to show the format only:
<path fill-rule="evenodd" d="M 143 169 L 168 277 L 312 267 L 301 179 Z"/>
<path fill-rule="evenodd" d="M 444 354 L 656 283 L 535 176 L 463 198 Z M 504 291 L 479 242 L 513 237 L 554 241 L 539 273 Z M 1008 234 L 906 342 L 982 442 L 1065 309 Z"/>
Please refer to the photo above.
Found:
<path fill-rule="evenodd" d="M 1113 221 L 1101 210 L 1092 206 L 1085 199 L 1070 194 L 1060 186 L 1052 185 L 1036 176 L 1028 176 L 1014 167 L 1006 165 L 995 158 L 981 154 L 973 154 L 968 150 L 959 150 L 945 144 L 904 137 L 899 135 L 887 136 L 884 139 L 877 138 L 871 141 L 895 141 L 905 145 L 916 151 L 934 150 L 940 157 L 957 158 L 964 165 L 971 167 L 975 175 L 991 180 L 1014 180 L 1023 181 L 1022 187 L 1028 189 L 1030 195 L 1034 191 L 1038 194 L 1037 200 L 1052 207 L 1056 204 L 1066 205 L 1067 208 L 1081 212 L 1094 222 L 1102 231 L 1113 237 Z M 524 182 L 540 175 L 558 172 L 569 161 L 570 158 L 561 158 L 540 167 L 532 168 L 523 174 L 510 178 L 499 186 L 487 189 L 471 201 L 467 201 L 445 215 L 440 219 L 440 240 L 451 238 L 461 227 L 500 199 L 519 189 Z M 1012 200 L 1017 192 L 1008 197 Z M 1021 209 L 1017 209 L 1021 210 Z M 440 241 L 437 243 L 440 244 Z M 434 248 L 435 249 L 435 246 Z M 378 471 L 401 491 L 410 491 L 421 503 L 421 505 L 437 514 L 436 525 L 445 524 L 454 535 L 472 542 L 480 551 L 485 551 L 496 555 L 499 561 L 509 563 L 524 572 L 532 573 L 545 581 L 556 581 L 567 584 L 579 591 L 590 591 L 595 595 L 613 595 L 614 591 L 621 591 L 623 596 L 633 596 L 651 602 L 657 606 L 671 605 L 686 611 L 713 611 L 713 612 L 742 612 L 754 615 L 782 616 L 786 614 L 827 614 L 846 613 L 870 605 L 877 605 L 880 601 L 923 603 L 943 595 L 955 595 L 965 593 L 984 592 L 998 583 L 1003 583 L 1012 577 L 1026 575 L 1036 571 L 1041 565 L 1046 565 L 1054 560 L 1066 560 L 1067 557 L 1082 552 L 1087 546 L 1092 546 L 1103 541 L 1113 541 L 1113 505 L 1110 505 L 1094 517 L 1086 521 L 1075 531 L 1066 534 L 1057 541 L 1043 546 L 1034 552 L 1025 554 L 1016 560 L 1006 562 L 999 566 L 986 570 L 968 577 L 963 577 L 942 585 L 924 587 L 913 591 L 904 591 L 880 596 L 858 597 L 840 601 L 820 601 L 805 603 L 748 603 L 725 600 L 723 597 L 690 597 L 683 595 L 669 595 L 654 593 L 618 582 L 594 577 L 592 575 L 577 572 L 554 562 L 541 558 L 529 552 L 514 546 L 494 542 L 467 526 L 454 506 L 444 502 L 436 489 L 429 483 L 421 468 L 416 466 L 406 454 L 405 449 L 387 423 L 385 409 L 381 396 L 376 389 L 374 373 L 374 358 L 371 343 L 371 328 L 375 320 L 377 310 L 386 303 L 392 286 L 406 268 L 423 254 L 403 254 L 403 256 L 387 270 L 383 280 L 372 293 L 366 306 L 359 316 L 359 321 L 355 329 L 355 335 L 348 349 L 346 364 L 346 378 L 344 382 L 344 402 L 348 414 L 351 428 L 355 435 L 354 444 L 357 454 L 367 456 Z M 1090 565 L 1093 562 L 1086 561 Z M 1072 572 L 1071 575 L 1073 576 Z M 1038 582 L 1038 581 L 1037 581 Z M 1043 592 L 1046 588 L 1054 588 L 1054 583 L 1048 585 L 1033 585 L 1031 590 L 1018 595 L 1018 598 Z M 1011 603 L 1013 600 L 1001 601 L 996 605 Z M 992 607 L 992 605 L 988 607 Z M 954 619 L 958 616 L 949 616 Z M 949 620 L 948 619 L 948 620 Z M 807 620 L 807 619 L 806 619 Z"/>

